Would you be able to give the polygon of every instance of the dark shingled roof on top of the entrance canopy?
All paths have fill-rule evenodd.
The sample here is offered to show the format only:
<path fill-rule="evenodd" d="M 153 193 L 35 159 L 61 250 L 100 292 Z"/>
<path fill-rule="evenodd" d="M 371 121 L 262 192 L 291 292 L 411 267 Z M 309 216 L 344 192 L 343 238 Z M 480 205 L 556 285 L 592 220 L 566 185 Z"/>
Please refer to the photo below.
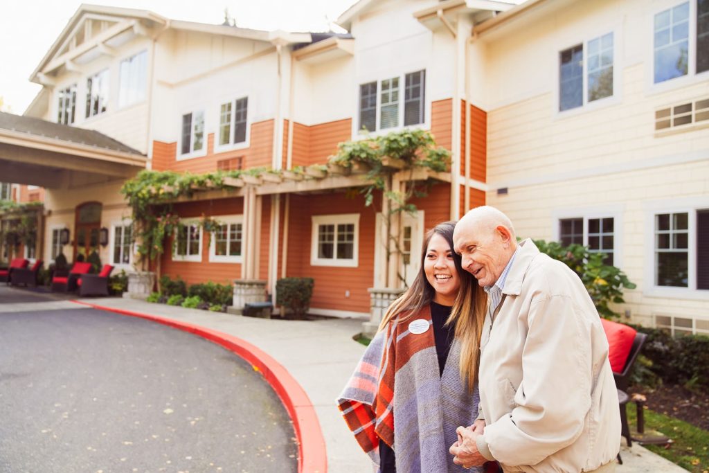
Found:
<path fill-rule="evenodd" d="M 13 113 L 0 112 L 0 130 L 9 130 L 16 133 L 26 133 L 27 135 L 91 146 L 99 150 L 128 152 L 133 155 L 145 156 L 140 151 L 130 148 L 130 146 L 124 145 L 120 141 L 114 140 L 96 130 L 86 130 L 86 128 L 52 123 L 40 118 L 30 118 Z"/>

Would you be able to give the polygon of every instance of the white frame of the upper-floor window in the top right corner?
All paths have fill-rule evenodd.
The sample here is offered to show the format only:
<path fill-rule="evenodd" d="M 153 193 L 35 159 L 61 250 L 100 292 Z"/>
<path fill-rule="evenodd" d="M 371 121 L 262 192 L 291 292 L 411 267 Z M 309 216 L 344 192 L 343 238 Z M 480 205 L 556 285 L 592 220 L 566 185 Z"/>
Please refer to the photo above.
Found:
<path fill-rule="evenodd" d="M 667 9 L 673 9 L 675 6 L 679 6 L 685 1 L 681 0 L 664 0 L 661 4 L 656 6 L 649 14 L 649 21 L 647 25 L 647 38 L 649 45 L 647 46 L 647 61 L 645 62 L 645 77 L 646 94 L 661 94 L 665 91 L 676 89 L 680 87 L 686 87 L 689 84 L 695 84 L 697 82 L 703 82 L 709 78 L 709 70 L 703 72 L 697 72 L 697 1 L 696 0 L 686 0 L 689 2 L 689 38 L 688 38 L 688 64 L 687 73 L 683 76 L 675 77 L 674 79 L 667 79 L 663 82 L 654 82 L 654 71 L 655 71 L 655 41 L 654 41 L 654 21 L 655 15 L 661 13 Z"/>

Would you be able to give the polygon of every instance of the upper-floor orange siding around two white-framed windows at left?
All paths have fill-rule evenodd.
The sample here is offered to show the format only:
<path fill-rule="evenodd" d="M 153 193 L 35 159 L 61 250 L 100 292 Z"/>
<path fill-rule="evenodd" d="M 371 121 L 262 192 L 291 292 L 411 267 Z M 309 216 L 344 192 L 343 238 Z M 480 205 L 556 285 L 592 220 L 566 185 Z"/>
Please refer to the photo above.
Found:
<path fill-rule="evenodd" d="M 214 172 L 217 162 L 233 157 L 244 157 L 244 168 L 271 167 L 274 121 L 265 120 L 251 124 L 249 148 L 214 153 L 214 133 L 207 135 L 207 154 L 187 160 L 177 160 L 177 143 L 152 144 L 152 169 L 164 171 Z"/>

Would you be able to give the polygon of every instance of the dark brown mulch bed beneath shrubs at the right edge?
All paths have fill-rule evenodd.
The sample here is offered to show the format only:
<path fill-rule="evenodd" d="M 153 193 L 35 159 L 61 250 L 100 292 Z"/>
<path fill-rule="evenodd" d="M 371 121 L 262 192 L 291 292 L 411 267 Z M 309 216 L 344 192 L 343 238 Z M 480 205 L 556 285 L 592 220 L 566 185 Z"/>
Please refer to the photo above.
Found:
<path fill-rule="evenodd" d="M 679 384 L 666 384 L 655 389 L 630 386 L 628 394 L 639 393 L 647 397 L 646 406 L 682 421 L 709 430 L 709 390 L 697 387 L 687 389 Z"/>

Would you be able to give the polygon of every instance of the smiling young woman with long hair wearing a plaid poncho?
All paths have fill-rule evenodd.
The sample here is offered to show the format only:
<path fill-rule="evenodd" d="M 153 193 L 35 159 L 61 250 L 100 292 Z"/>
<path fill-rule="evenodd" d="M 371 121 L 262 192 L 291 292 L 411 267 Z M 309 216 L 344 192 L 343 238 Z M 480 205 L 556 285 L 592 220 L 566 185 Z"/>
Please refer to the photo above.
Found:
<path fill-rule="evenodd" d="M 448 448 L 477 415 L 486 296 L 453 250 L 454 222 L 426 233 L 418 275 L 391 304 L 338 399 L 381 473 L 468 472 Z"/>

